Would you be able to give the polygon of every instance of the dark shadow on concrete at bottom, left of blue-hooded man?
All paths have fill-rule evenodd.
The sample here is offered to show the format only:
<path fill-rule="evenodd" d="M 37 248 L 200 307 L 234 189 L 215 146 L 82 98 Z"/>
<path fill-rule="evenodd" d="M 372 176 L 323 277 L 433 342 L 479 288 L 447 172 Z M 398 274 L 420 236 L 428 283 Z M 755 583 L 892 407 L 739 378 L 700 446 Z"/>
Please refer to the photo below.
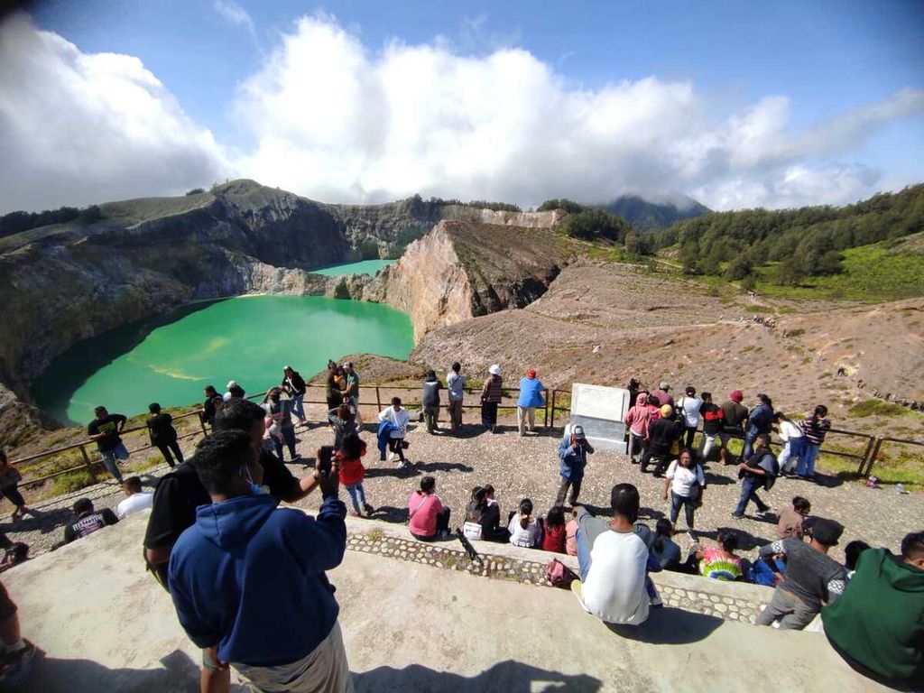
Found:
<path fill-rule="evenodd" d="M 24 691 L 73 693 L 189 693 L 199 690 L 200 665 L 182 650 L 161 658 L 162 669 L 110 669 L 91 660 L 61 660 L 40 656 L 33 665 Z M 249 693 L 249 688 L 231 684 L 231 693 Z"/>

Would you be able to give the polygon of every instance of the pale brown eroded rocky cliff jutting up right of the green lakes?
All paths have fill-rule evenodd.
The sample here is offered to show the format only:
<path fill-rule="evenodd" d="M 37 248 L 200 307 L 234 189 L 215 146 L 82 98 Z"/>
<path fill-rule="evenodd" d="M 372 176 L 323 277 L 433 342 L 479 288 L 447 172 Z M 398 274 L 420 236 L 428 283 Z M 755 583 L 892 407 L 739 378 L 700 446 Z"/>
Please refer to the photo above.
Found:
<path fill-rule="evenodd" d="M 443 221 L 407 247 L 362 298 L 410 315 L 414 337 L 539 298 L 571 256 L 548 229 Z"/>

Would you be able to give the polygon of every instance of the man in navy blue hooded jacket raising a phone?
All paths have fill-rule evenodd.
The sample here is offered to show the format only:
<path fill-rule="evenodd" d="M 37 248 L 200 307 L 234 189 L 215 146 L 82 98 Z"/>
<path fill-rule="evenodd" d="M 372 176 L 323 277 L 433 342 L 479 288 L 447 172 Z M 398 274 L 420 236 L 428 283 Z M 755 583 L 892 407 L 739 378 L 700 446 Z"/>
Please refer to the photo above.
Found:
<path fill-rule="evenodd" d="M 325 473 L 319 460 L 317 519 L 262 492 L 245 432 L 204 439 L 195 467 L 212 505 L 176 541 L 168 581 L 180 624 L 203 650 L 201 689 L 226 691 L 230 664 L 261 690 L 352 691 L 324 574 L 346 551 L 336 463 Z"/>

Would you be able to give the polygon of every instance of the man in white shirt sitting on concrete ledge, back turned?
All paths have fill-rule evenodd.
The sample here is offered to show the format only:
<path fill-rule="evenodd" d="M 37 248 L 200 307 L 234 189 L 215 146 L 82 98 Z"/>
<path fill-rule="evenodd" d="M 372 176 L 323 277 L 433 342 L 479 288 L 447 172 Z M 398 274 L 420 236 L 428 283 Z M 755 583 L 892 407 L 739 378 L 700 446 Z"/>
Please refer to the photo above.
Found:
<path fill-rule="evenodd" d="M 607 523 L 577 508 L 577 563 L 580 579 L 571 583 L 589 614 L 613 625 L 638 626 L 648 619 L 645 587 L 648 547 L 633 527 L 638 519 L 638 489 L 619 483 L 610 492 L 613 519 Z"/>

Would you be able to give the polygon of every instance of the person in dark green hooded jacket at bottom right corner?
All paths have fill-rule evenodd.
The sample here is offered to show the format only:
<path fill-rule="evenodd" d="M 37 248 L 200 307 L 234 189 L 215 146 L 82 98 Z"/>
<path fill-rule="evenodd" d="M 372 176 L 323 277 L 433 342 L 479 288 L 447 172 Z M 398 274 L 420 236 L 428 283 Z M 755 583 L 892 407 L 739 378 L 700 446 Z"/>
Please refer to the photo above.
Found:
<path fill-rule="evenodd" d="M 893 687 L 924 689 L 924 531 L 902 555 L 860 554 L 839 600 L 821 611 L 824 632 L 847 663 Z"/>

